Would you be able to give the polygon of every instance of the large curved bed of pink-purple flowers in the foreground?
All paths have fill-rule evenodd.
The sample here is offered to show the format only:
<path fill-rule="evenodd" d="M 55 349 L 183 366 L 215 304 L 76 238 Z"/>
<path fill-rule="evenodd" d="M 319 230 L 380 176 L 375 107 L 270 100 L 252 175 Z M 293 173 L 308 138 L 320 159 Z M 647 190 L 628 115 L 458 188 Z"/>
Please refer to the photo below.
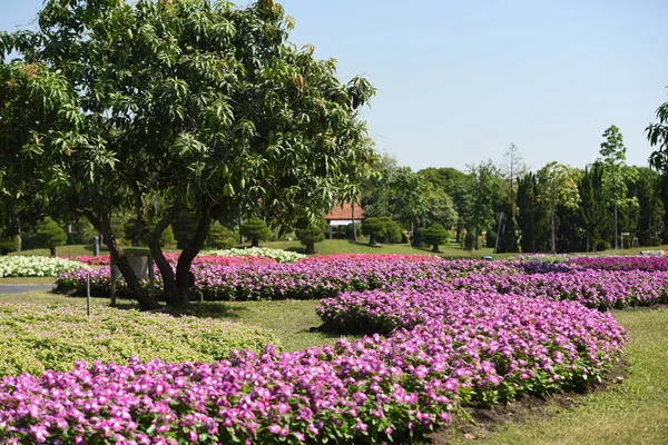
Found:
<path fill-rule="evenodd" d="M 212 364 L 84 363 L 0 384 L 7 443 L 377 443 L 448 425 L 464 405 L 600 379 L 626 333 L 573 301 L 411 289 L 342 294 L 330 325 L 382 333 Z"/>

